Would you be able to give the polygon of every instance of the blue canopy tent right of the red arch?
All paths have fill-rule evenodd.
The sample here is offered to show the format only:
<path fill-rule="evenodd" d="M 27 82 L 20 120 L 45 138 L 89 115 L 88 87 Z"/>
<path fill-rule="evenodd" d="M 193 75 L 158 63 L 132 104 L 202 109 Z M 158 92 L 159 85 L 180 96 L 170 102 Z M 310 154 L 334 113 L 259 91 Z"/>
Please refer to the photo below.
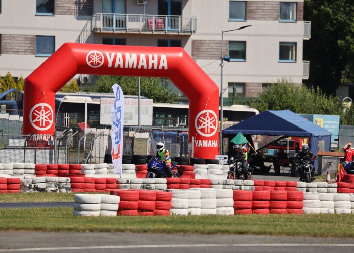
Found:
<path fill-rule="evenodd" d="M 229 135 L 239 132 L 244 135 L 309 137 L 310 151 L 314 155 L 319 151 L 320 141 L 324 142 L 323 151 L 330 151 L 331 146 L 331 132 L 290 110 L 264 111 L 223 130 L 223 134 Z"/>

